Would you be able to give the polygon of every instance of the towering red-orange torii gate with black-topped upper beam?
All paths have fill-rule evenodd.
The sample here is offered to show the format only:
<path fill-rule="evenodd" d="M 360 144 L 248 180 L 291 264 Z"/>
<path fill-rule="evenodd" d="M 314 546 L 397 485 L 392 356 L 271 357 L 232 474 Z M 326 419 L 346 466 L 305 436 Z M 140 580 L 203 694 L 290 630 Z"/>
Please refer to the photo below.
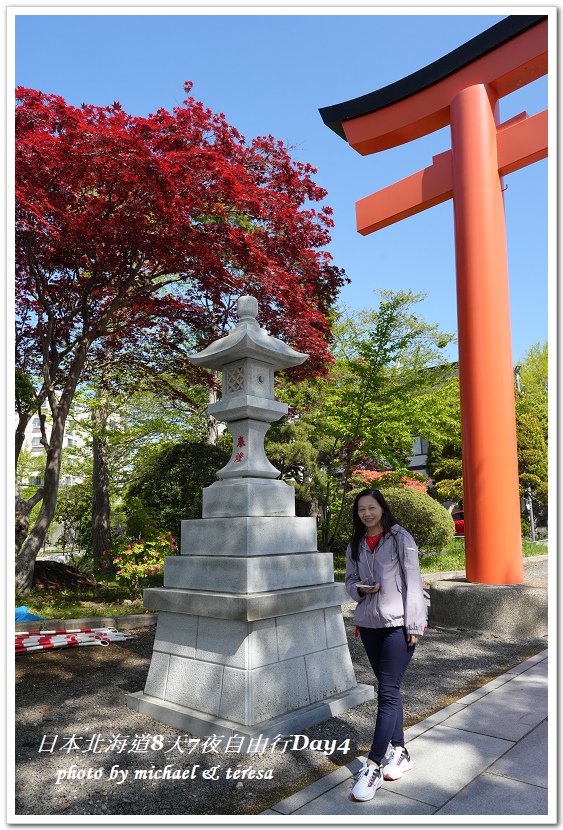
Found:
<path fill-rule="evenodd" d="M 361 155 L 451 128 L 451 150 L 360 199 L 356 216 L 365 235 L 454 201 L 470 582 L 523 580 L 501 177 L 547 156 L 547 111 L 500 124 L 498 100 L 547 73 L 547 26 L 546 15 L 512 15 L 413 75 L 320 110 Z"/>

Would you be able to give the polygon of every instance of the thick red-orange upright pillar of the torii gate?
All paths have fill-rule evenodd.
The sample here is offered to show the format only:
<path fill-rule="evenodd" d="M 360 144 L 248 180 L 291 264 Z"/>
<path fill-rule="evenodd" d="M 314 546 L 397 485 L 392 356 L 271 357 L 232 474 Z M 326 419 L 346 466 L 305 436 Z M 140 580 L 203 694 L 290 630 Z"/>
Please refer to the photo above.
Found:
<path fill-rule="evenodd" d="M 522 530 L 495 103 L 484 85 L 467 87 L 451 116 L 466 577 L 518 583 Z"/>

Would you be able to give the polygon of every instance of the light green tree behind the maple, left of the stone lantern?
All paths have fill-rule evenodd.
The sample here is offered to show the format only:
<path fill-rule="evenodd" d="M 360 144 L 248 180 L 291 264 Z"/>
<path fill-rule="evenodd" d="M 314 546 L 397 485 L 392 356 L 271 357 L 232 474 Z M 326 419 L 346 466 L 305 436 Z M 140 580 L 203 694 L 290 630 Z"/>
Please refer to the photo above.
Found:
<path fill-rule="evenodd" d="M 158 357 L 148 346 L 143 359 L 138 364 L 129 352 L 116 359 L 101 348 L 72 408 L 86 438 L 82 448 L 69 452 L 74 476 L 90 482 L 90 532 L 84 547 L 95 568 L 110 564 L 102 554 L 112 549 L 113 530 L 123 532 L 122 494 L 139 458 L 162 442 L 205 436 L 208 388 L 193 384 L 191 366 L 186 376 L 178 354 Z M 171 377 L 165 370 L 171 371 L 174 361 L 177 376 Z"/>

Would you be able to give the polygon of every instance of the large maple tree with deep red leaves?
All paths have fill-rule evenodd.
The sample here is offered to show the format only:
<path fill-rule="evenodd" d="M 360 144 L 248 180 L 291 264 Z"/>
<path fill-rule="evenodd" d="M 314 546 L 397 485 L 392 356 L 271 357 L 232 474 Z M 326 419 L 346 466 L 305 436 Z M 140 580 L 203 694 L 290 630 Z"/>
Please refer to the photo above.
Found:
<path fill-rule="evenodd" d="M 225 333 L 248 293 L 262 325 L 311 355 L 306 371 L 328 358 L 327 315 L 345 277 L 326 251 L 333 223 L 329 207 L 315 207 L 326 196 L 315 169 L 272 136 L 246 141 L 190 89 L 182 106 L 147 117 L 16 91 L 17 368 L 34 383 L 18 400 L 20 438 L 45 401 L 52 418 L 33 497 L 41 509 L 20 533 L 22 590 L 54 515 L 65 421 L 97 342 L 119 349 L 152 337 L 172 348 L 187 328 L 199 349 Z M 24 517 L 31 501 L 19 501 Z"/>

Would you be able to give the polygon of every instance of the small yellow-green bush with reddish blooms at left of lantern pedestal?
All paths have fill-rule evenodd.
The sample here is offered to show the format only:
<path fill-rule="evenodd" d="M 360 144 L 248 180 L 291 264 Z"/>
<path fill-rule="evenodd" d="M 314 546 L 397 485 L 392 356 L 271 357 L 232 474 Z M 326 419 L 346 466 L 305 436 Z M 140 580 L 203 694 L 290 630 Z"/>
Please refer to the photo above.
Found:
<path fill-rule="evenodd" d="M 148 577 L 157 576 L 164 568 L 164 557 L 175 556 L 176 540 L 171 533 L 156 533 L 152 539 L 122 539 L 109 551 L 116 567 L 115 578 L 118 583 L 127 585 L 134 593 L 139 593 Z"/>

